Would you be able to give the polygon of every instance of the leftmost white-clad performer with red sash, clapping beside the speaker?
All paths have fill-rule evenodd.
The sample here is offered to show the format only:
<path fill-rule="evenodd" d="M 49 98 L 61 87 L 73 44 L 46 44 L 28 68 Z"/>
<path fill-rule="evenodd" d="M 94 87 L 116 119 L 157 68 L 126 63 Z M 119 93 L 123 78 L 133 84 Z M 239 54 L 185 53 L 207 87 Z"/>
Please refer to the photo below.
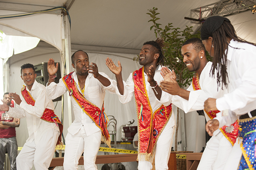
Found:
<path fill-rule="evenodd" d="M 9 93 L 18 104 L 17 108 L 0 105 L 1 111 L 19 119 L 26 117 L 29 138 L 16 158 L 17 170 L 48 170 L 56 143 L 60 144 L 62 124 L 54 114 L 52 100 L 46 97 L 45 86 L 35 81 L 35 68 L 32 64 L 21 66 L 21 78 L 26 84 L 20 96 Z"/>

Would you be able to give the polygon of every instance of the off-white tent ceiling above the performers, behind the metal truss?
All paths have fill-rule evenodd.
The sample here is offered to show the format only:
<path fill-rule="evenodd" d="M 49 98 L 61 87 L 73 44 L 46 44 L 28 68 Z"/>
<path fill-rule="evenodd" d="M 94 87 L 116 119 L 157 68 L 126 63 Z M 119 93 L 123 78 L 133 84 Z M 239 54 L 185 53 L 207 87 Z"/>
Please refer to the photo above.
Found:
<path fill-rule="evenodd" d="M 161 24 L 173 23 L 174 27 L 184 29 L 193 26 L 194 30 L 200 25 L 191 24 L 184 17 L 189 17 L 190 10 L 218 0 L 8 0 L 0 2 L 44 5 L 50 7 L 72 4 L 69 9 L 71 16 L 71 44 L 90 46 L 115 47 L 125 49 L 140 49 L 147 40 L 155 39 L 154 31 L 150 31 L 152 23 L 148 9 L 158 8 L 158 20 Z M 74 3 L 73 3 L 74 2 Z M 36 6 L 35 6 L 36 7 Z M 0 9 L 3 9 L 0 7 Z M 22 7 L 20 7 L 22 8 Z M 29 8 L 29 7 L 23 7 Z M 32 8 L 32 7 L 30 7 Z M 255 42 L 256 19 L 252 12 L 240 13 L 228 17 L 234 24 L 238 36 Z M 127 52 L 125 52 L 127 53 Z"/>

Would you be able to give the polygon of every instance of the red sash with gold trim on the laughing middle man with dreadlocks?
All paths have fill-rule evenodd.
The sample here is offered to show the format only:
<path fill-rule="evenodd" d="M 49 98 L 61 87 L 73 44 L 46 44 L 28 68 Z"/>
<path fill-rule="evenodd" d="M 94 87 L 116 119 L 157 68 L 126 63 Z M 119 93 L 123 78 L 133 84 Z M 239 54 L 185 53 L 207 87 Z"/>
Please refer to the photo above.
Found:
<path fill-rule="evenodd" d="M 134 96 L 138 119 L 138 160 L 149 161 L 158 137 L 172 116 L 172 104 L 161 105 L 154 113 L 152 111 L 146 90 L 144 67 L 132 73 Z M 146 155 L 146 157 L 142 157 Z"/>

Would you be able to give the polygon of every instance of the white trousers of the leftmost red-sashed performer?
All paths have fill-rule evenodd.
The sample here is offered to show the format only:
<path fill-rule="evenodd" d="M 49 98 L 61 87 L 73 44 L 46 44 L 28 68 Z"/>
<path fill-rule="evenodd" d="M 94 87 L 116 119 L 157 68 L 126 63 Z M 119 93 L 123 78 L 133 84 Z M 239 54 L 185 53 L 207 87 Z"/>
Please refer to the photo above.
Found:
<path fill-rule="evenodd" d="M 37 144 L 35 140 L 26 142 L 16 158 L 17 170 L 31 170 L 33 163 L 35 170 L 48 170 L 59 135 L 59 131 L 51 129 Z"/>

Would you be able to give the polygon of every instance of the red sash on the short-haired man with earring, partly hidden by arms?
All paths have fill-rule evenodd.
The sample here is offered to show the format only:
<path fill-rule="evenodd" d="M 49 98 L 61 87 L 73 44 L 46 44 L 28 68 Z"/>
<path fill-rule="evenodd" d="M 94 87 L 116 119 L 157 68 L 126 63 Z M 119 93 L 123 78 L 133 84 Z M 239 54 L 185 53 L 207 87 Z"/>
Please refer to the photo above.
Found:
<path fill-rule="evenodd" d="M 197 73 L 193 76 L 192 86 L 194 91 L 201 89 L 199 85 L 199 75 Z M 210 119 L 214 119 L 216 117 L 216 113 L 219 113 L 219 112 L 220 111 L 210 111 L 206 113 L 210 117 Z M 223 126 L 219 130 L 221 130 L 222 134 L 227 138 L 227 140 L 229 140 L 232 146 L 234 146 L 234 143 L 236 142 L 236 138 L 238 137 L 238 128 L 239 128 L 239 124 L 237 120 L 235 123 L 231 124 L 230 126 Z"/>

